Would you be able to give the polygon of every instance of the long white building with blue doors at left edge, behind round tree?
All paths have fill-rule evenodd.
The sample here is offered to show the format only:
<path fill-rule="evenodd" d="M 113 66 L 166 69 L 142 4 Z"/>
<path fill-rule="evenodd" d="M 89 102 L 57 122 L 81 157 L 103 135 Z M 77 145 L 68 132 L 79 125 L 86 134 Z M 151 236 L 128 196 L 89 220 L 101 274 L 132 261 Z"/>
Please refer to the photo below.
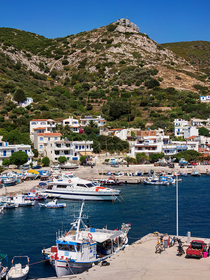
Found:
<path fill-rule="evenodd" d="M 0 141 L 0 165 L 3 160 L 6 158 L 10 158 L 12 153 L 17 151 L 23 151 L 28 155 L 28 161 L 26 164 L 32 162 L 32 157 L 34 156 L 31 145 L 19 144 L 19 145 L 9 145 L 8 142 Z"/>

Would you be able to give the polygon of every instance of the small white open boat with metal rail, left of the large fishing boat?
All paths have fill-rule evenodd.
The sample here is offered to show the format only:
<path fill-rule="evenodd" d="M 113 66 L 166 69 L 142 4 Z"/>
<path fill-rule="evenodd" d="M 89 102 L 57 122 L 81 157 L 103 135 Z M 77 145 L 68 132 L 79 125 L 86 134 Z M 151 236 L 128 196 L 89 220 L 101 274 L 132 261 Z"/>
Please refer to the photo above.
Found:
<path fill-rule="evenodd" d="M 22 259 L 27 258 L 27 265 L 15 263 Z M 15 256 L 12 260 L 12 267 L 6 275 L 6 280 L 25 280 L 29 274 L 29 257 L 28 256 Z"/>

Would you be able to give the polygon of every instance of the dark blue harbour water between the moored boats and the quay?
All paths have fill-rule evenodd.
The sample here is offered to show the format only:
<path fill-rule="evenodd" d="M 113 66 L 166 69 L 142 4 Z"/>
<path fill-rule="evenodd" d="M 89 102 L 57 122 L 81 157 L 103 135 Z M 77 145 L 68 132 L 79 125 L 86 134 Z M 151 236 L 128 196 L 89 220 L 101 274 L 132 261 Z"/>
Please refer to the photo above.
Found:
<path fill-rule="evenodd" d="M 181 178 L 182 182 L 178 182 L 179 235 L 185 236 L 191 231 L 191 236 L 210 237 L 210 176 Z M 137 239 L 154 231 L 176 235 L 176 184 L 120 187 L 123 202 L 85 202 L 83 214 L 88 211 L 90 226 L 107 225 L 108 229 L 116 229 L 123 222 L 130 223 L 128 236 Z M 28 255 L 30 263 L 40 262 L 30 266 L 28 279 L 55 276 L 49 262 L 41 262 L 41 250 L 55 244 L 56 232 L 62 226 L 63 230 L 71 228 L 74 206 L 76 213 L 81 206 L 79 201 L 61 201 L 66 202 L 66 208 L 40 208 L 36 201 L 34 207 L 6 209 L 0 213 L 0 251 L 8 255 L 9 268 L 13 256 Z M 129 243 L 134 241 L 129 238 Z"/>

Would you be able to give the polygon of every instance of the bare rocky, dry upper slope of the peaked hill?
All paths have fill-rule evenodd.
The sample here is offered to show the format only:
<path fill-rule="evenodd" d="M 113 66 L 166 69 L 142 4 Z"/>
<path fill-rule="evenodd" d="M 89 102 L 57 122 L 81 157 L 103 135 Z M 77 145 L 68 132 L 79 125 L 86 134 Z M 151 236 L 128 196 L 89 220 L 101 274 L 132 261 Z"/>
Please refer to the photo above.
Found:
<path fill-rule="evenodd" d="M 157 77 L 161 76 L 164 78 L 161 83 L 162 87 L 171 86 L 192 90 L 194 84 L 210 85 L 209 82 L 204 83 L 185 73 L 178 73 L 176 69 L 195 73 L 197 68 L 188 64 L 185 59 L 179 57 L 171 50 L 163 48 L 146 34 L 139 32 L 138 27 L 130 23 L 129 20 L 120 19 L 111 25 L 116 26 L 115 30 L 111 32 L 107 30 L 110 26 L 108 25 L 94 29 L 91 32 L 81 32 L 73 36 L 67 36 L 71 50 L 76 51 L 71 55 L 67 55 L 69 71 L 64 70 L 65 66 L 62 65 L 64 56 L 59 60 L 55 60 L 54 58 L 46 58 L 45 56 L 31 53 L 31 59 L 28 60 L 22 50 L 17 51 L 16 54 L 8 52 L 8 50 L 12 49 L 12 46 L 7 50 L 1 48 L 1 51 L 16 62 L 20 61 L 22 64 L 25 64 L 28 69 L 39 73 L 43 73 L 39 69 L 39 62 L 45 62 L 50 67 L 50 70 L 56 69 L 59 72 L 61 79 L 64 79 L 66 76 L 71 78 L 72 73 L 77 71 L 80 62 L 87 58 L 85 71 L 90 73 L 98 71 L 95 65 L 99 62 L 115 62 L 111 67 L 105 67 L 105 78 L 112 77 L 113 74 L 125 66 L 138 66 L 141 61 L 144 61 L 145 66 L 154 66 L 159 70 Z M 107 40 L 111 40 L 111 44 Z M 3 44 L 1 45 L 3 46 Z M 62 42 L 59 45 L 60 48 L 65 49 Z M 84 50 L 87 50 L 87 52 L 82 52 Z M 124 64 L 122 64 L 122 60 Z M 179 76 L 182 79 L 177 80 L 175 76 Z"/>

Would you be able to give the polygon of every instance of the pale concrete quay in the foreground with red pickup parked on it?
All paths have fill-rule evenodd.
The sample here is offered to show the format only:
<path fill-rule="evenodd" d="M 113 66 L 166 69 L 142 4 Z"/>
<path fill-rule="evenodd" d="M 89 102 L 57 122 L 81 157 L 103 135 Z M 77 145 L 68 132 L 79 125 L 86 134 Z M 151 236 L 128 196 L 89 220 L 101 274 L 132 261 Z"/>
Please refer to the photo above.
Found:
<path fill-rule="evenodd" d="M 174 235 L 170 235 L 173 237 Z M 164 237 L 167 239 L 168 237 Z M 186 251 L 187 237 L 179 236 L 184 243 Z M 158 237 L 148 234 L 129 245 L 124 250 L 107 259 L 109 266 L 96 265 L 82 274 L 65 276 L 61 278 L 47 277 L 52 280 L 147 280 L 147 279 L 209 279 L 210 257 L 188 258 L 186 255 L 178 256 L 177 244 L 165 248 L 161 254 L 155 254 Z M 210 239 L 191 237 L 209 243 Z M 129 239 L 130 241 L 131 239 Z M 35 279 L 34 279 L 35 280 Z M 40 278 L 38 280 L 46 280 Z"/>

